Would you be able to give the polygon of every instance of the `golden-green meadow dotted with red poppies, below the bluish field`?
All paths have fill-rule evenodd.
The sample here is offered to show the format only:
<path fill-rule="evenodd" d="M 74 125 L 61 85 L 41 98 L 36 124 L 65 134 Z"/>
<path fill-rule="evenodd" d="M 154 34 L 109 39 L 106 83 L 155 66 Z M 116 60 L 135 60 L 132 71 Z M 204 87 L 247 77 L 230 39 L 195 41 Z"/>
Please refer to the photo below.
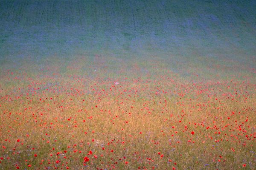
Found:
<path fill-rule="evenodd" d="M 177 59 L 2 67 L 0 169 L 255 169 L 255 69 Z"/>

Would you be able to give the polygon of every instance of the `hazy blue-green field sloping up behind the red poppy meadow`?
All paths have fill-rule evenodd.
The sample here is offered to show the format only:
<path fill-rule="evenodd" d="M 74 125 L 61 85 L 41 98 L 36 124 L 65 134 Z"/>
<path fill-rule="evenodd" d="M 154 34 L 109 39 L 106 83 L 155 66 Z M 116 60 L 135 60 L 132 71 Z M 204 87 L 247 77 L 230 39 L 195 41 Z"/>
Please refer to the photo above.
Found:
<path fill-rule="evenodd" d="M 255 0 L 1 0 L 0 66 L 97 54 L 255 68 L 255 9 Z"/>

